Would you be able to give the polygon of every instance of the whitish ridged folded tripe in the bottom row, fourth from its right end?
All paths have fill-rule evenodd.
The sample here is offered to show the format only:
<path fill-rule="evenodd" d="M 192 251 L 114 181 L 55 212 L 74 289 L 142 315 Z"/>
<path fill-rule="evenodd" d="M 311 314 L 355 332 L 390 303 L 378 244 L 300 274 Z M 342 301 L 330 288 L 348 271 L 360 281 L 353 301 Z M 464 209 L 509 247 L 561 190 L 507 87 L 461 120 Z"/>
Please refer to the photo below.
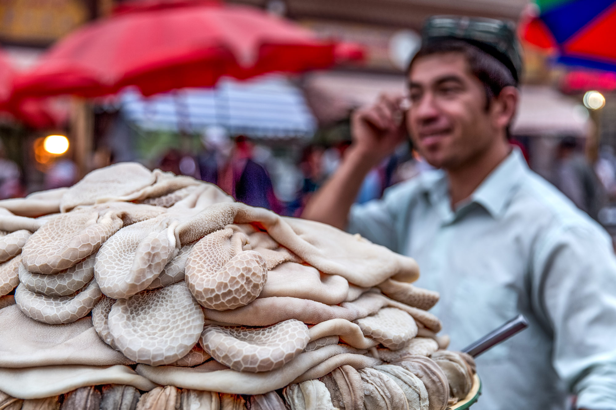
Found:
<path fill-rule="evenodd" d="M 408 410 L 407 396 L 386 374 L 375 369 L 358 371 L 363 381 L 363 405 L 366 410 Z"/>

